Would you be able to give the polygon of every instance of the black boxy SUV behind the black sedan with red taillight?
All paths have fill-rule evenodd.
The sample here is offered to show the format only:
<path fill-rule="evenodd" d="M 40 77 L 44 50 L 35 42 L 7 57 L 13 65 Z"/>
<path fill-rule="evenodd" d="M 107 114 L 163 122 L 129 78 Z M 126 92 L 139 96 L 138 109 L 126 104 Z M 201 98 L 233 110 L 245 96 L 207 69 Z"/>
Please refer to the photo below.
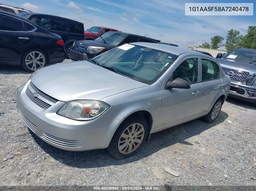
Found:
<path fill-rule="evenodd" d="M 78 21 L 39 13 L 19 13 L 18 15 L 38 24 L 51 33 L 60 35 L 64 41 L 66 58 L 69 58 L 70 47 L 75 41 L 85 40 L 84 24 Z"/>

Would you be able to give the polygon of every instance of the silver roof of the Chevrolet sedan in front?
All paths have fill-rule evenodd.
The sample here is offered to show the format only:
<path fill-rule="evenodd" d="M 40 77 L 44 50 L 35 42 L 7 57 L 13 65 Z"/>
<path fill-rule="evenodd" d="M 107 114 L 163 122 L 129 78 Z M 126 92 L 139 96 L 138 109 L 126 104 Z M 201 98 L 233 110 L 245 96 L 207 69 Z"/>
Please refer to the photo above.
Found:
<path fill-rule="evenodd" d="M 184 53 L 193 53 L 194 56 L 208 56 L 206 54 L 199 53 L 199 52 L 196 52 L 194 50 L 183 49 L 183 48 L 180 48 L 180 47 L 177 47 L 177 46 L 170 46 L 170 45 L 160 44 L 160 43 L 135 42 L 135 43 L 129 43 L 129 44 L 145 46 L 145 47 L 148 47 L 148 48 L 157 49 L 157 50 L 160 50 L 160 51 L 169 52 L 169 53 L 176 54 L 176 55 L 181 55 L 181 54 L 184 54 Z M 211 56 L 208 56 L 208 57 L 212 58 Z"/>

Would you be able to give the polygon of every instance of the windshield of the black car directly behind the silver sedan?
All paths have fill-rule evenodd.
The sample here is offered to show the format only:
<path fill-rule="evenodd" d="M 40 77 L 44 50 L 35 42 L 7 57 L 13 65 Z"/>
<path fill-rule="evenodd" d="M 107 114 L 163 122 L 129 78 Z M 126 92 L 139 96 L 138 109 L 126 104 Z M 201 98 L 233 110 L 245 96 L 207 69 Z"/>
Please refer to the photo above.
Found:
<path fill-rule="evenodd" d="M 101 37 L 105 40 L 107 44 L 118 46 L 121 42 L 123 42 L 123 40 L 125 40 L 127 35 L 122 33 L 107 32 L 105 34 L 102 34 Z M 105 43 L 101 37 L 96 38 L 95 41 Z"/>

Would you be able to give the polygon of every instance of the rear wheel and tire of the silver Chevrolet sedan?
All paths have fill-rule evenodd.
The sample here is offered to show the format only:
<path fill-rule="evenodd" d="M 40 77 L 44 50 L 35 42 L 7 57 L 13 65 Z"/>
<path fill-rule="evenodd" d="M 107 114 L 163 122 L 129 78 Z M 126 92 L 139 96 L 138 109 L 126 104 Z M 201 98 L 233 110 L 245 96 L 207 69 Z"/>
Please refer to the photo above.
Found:
<path fill-rule="evenodd" d="M 202 120 L 207 123 L 212 123 L 217 119 L 218 115 L 221 112 L 221 107 L 223 104 L 223 100 L 221 97 L 214 103 L 209 113 L 202 117 Z"/>

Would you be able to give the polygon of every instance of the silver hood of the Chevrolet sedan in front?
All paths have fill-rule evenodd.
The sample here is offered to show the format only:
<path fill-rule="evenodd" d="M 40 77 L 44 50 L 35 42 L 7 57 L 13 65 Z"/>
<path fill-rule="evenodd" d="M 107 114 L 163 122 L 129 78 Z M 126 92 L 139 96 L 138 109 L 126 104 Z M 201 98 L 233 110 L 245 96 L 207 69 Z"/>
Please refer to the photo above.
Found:
<path fill-rule="evenodd" d="M 100 100 L 148 85 L 88 61 L 46 66 L 30 80 L 39 90 L 60 101 Z"/>

